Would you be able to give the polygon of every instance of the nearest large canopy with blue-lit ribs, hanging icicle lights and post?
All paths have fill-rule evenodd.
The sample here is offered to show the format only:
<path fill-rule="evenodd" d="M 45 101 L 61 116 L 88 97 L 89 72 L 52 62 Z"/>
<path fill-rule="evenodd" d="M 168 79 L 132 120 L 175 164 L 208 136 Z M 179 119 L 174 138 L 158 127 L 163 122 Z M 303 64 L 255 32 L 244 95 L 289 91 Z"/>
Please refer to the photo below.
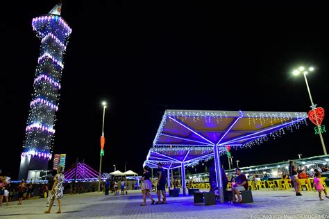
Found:
<path fill-rule="evenodd" d="M 217 186 L 223 202 L 220 151 L 222 147 L 247 148 L 280 137 L 305 124 L 305 112 L 242 112 L 204 110 L 166 110 L 153 141 L 153 148 L 212 146 Z M 147 159 L 146 159 L 147 161 Z M 185 171 L 184 163 L 181 165 Z M 182 174 L 183 175 L 183 174 Z M 182 177 L 183 193 L 185 179 Z"/>

